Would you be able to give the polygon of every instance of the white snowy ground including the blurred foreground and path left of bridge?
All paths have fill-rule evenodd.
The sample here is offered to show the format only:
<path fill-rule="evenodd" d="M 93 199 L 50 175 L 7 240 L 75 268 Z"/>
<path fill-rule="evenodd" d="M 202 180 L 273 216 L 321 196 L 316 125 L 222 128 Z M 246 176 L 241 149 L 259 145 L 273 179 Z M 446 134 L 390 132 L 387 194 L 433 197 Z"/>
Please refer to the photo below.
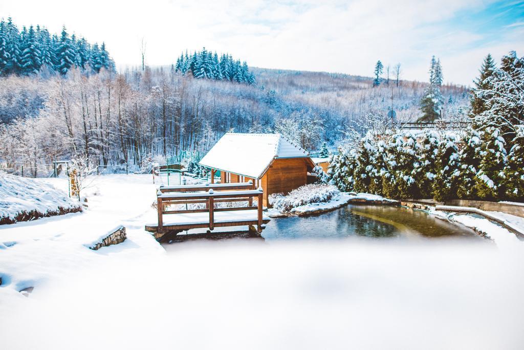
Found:
<path fill-rule="evenodd" d="M 35 181 L 67 190 L 65 179 Z M 524 342 L 518 240 L 510 247 L 230 240 L 173 244 L 166 254 L 144 231 L 156 218 L 150 174 L 94 177 L 83 195 L 82 213 L 0 226 L 2 348 L 517 349 Z M 86 247 L 117 225 L 126 227 L 124 243 Z M 28 287 L 30 294 L 19 292 Z"/>

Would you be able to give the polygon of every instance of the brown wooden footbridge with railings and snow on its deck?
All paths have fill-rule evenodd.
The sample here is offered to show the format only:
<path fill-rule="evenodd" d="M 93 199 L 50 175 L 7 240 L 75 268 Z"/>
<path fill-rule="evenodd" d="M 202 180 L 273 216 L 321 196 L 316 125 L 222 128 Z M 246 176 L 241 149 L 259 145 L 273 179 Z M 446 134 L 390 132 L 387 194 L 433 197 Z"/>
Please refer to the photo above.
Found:
<path fill-rule="evenodd" d="M 253 199 L 257 205 L 253 205 Z M 158 224 L 146 225 L 155 238 L 177 234 L 192 228 L 249 226 L 258 233 L 270 221 L 262 212 L 263 191 L 253 183 L 211 183 L 160 186 L 157 192 Z M 247 206 L 216 208 L 215 203 L 247 202 Z M 170 205 L 185 205 L 185 209 L 170 210 Z M 188 204 L 205 204 L 205 209 L 188 209 Z M 165 215 L 169 215 L 165 217 Z"/>

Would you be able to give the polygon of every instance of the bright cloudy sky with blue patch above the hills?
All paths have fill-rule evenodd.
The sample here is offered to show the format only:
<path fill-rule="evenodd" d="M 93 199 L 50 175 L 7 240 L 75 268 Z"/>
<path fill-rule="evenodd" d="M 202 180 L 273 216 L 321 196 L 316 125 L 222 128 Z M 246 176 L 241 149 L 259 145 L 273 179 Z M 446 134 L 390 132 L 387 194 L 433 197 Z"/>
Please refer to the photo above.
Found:
<path fill-rule="evenodd" d="M 402 79 L 471 85 L 486 54 L 524 53 L 524 1 L 3 1 L 0 17 L 106 43 L 118 69 L 169 65 L 183 50 L 231 53 L 250 66 L 370 76 L 381 60 Z"/>

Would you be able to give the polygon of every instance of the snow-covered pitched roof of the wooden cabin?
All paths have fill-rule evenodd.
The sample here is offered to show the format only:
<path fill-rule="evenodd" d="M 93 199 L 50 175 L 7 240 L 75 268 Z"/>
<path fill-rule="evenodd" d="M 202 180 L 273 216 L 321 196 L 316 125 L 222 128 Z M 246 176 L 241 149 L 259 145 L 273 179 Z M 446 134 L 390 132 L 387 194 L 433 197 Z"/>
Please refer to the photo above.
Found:
<path fill-rule="evenodd" d="M 309 153 L 280 134 L 227 133 L 199 164 L 259 179 L 279 158 L 309 158 Z"/>

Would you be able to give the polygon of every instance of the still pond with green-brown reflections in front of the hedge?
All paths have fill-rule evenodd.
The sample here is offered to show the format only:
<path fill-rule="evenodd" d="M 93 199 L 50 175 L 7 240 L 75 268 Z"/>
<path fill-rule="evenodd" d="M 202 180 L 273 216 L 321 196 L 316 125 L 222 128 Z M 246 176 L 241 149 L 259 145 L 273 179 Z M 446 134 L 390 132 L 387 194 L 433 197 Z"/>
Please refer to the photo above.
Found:
<path fill-rule="evenodd" d="M 479 238 L 471 229 L 419 210 L 390 205 L 351 204 L 315 216 L 274 218 L 267 224 L 262 236 L 266 240 L 345 237 Z"/>

